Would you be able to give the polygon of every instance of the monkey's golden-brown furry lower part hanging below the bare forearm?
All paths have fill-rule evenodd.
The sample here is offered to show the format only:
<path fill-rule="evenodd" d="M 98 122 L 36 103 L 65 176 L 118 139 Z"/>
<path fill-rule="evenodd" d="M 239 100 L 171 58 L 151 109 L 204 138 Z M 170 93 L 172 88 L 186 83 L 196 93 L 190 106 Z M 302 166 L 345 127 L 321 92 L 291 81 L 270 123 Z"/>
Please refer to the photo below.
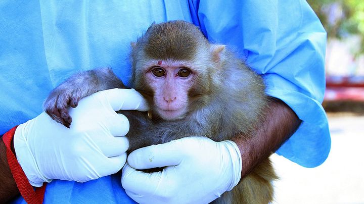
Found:
<path fill-rule="evenodd" d="M 273 201 L 272 181 L 278 179 L 269 159 L 264 160 L 231 191 L 226 191 L 213 204 L 267 204 Z"/>

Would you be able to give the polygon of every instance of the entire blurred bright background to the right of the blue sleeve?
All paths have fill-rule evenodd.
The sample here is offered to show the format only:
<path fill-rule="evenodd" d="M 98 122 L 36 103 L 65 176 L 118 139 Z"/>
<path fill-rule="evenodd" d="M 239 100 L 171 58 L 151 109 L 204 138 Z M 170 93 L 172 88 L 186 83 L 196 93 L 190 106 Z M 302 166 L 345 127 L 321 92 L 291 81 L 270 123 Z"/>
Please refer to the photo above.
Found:
<path fill-rule="evenodd" d="M 323 106 L 332 147 L 312 169 L 273 155 L 274 203 L 364 203 L 364 0 L 307 2 L 328 33 Z"/>

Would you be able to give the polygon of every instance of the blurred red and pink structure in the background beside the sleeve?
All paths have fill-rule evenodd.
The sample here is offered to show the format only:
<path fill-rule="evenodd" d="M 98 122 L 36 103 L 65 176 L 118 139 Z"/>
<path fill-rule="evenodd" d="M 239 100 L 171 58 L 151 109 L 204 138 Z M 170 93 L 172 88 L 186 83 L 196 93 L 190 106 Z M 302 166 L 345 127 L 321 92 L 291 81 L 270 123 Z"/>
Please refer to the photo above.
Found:
<path fill-rule="evenodd" d="M 364 76 L 327 76 L 324 101 L 364 102 Z"/>

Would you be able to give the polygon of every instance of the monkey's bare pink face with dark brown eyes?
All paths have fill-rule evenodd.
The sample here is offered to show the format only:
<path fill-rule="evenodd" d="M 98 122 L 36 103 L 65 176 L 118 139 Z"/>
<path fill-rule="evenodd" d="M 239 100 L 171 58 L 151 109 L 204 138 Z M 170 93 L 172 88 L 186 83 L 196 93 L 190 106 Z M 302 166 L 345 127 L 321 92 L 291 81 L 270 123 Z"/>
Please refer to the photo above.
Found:
<path fill-rule="evenodd" d="M 185 117 L 193 71 L 181 63 L 158 61 L 149 67 L 146 77 L 154 90 L 154 111 L 164 120 Z"/>

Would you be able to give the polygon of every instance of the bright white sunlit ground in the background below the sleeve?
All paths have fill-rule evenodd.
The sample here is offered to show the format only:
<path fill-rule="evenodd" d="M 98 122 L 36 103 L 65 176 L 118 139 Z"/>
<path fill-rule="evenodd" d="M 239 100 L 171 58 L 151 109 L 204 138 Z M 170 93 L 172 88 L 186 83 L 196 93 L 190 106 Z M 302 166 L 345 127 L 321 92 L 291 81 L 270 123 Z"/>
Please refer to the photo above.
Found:
<path fill-rule="evenodd" d="M 337 112 L 328 118 L 332 146 L 324 164 L 307 169 L 271 157 L 280 176 L 274 203 L 364 203 L 364 116 Z"/>

